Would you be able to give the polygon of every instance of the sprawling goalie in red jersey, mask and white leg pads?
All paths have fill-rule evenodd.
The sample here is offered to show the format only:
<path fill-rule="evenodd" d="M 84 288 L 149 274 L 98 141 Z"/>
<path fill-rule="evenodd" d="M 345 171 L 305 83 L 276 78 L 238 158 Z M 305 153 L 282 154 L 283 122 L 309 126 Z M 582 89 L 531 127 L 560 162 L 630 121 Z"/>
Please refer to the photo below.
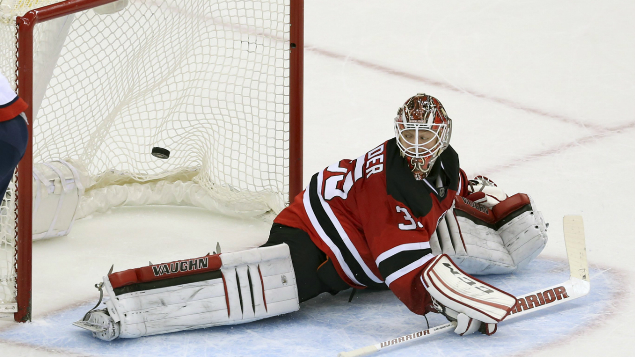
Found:
<path fill-rule="evenodd" d="M 444 314 L 461 335 L 491 335 L 516 298 L 472 275 L 526 266 L 547 225 L 530 196 L 467 179 L 438 99 L 409 98 L 394 130 L 313 175 L 265 245 L 110 273 L 106 308 L 76 324 L 104 340 L 140 337 L 246 323 L 368 288 L 392 290 L 415 314 Z"/>

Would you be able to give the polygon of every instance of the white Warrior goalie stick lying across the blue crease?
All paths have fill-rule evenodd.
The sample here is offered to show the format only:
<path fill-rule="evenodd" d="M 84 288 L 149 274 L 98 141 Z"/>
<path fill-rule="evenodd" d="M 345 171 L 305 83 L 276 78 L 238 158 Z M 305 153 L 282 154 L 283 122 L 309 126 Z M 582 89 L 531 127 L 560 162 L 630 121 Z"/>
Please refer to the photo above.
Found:
<path fill-rule="evenodd" d="M 589 266 L 584 242 L 584 224 L 582 216 L 567 215 L 563 218 L 565 232 L 566 256 L 569 262 L 569 279 L 561 284 L 542 288 L 535 292 L 516 297 L 516 306 L 504 321 L 518 318 L 528 313 L 534 313 L 549 306 L 556 306 L 578 297 L 583 297 L 591 290 L 589 280 Z M 375 353 L 382 349 L 401 346 L 404 342 L 425 339 L 439 333 L 453 331 L 457 323 L 452 321 L 445 325 L 428 328 L 409 335 L 386 340 L 378 344 L 362 347 L 354 351 L 340 352 L 338 357 L 359 357 Z"/>

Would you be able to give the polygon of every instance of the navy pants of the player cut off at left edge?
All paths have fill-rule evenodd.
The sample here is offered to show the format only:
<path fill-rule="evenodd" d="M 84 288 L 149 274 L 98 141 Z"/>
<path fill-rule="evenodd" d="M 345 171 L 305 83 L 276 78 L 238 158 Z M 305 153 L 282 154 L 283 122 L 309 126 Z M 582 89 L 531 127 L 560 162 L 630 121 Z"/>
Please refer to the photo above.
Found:
<path fill-rule="evenodd" d="M 0 121 L 0 201 L 13 178 L 15 166 L 27 149 L 29 129 L 22 116 Z"/>

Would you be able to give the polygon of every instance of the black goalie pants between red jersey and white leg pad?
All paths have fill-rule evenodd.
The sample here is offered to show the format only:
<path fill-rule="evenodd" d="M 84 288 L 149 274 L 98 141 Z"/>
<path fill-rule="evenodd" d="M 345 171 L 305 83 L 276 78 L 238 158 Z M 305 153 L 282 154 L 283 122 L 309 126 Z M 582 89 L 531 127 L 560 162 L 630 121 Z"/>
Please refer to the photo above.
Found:
<path fill-rule="evenodd" d="M 328 292 L 335 295 L 351 288 L 340 278 L 333 262 L 311 241 L 307 232 L 274 223 L 269 232 L 269 240 L 262 246 L 282 243 L 289 246 L 300 302 L 312 299 L 321 293 Z"/>

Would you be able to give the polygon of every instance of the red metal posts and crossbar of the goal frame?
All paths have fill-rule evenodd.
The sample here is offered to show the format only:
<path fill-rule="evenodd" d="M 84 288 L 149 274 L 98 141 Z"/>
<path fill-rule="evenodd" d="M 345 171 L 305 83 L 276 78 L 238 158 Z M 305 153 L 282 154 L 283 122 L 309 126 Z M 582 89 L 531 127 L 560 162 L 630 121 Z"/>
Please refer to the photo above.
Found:
<path fill-rule="evenodd" d="M 29 147 L 24 158 L 18 165 L 17 184 L 15 195 L 17 196 L 17 243 L 15 249 L 15 275 L 17 276 L 16 302 L 17 312 L 14 314 L 16 321 L 29 321 L 31 317 L 31 275 L 32 275 L 32 168 L 34 165 L 33 128 L 41 125 L 34 118 L 34 27 L 37 24 L 64 17 L 72 13 L 79 13 L 97 6 L 112 3 L 112 0 L 67 0 L 36 10 L 30 10 L 22 17 L 16 18 L 17 24 L 17 90 L 18 95 L 28 104 L 27 118 L 29 118 Z M 288 175 L 288 183 L 284 182 L 284 194 L 287 201 L 291 201 L 296 194 L 302 191 L 302 97 L 303 97 L 303 49 L 304 49 L 304 0 L 286 0 L 288 5 L 288 37 L 285 36 L 285 47 L 288 48 L 288 72 L 285 72 L 284 97 L 288 102 L 284 106 L 285 125 L 284 140 L 284 166 L 285 175 Z M 285 5 L 285 8 L 286 8 Z M 112 16 L 116 16 L 114 14 Z M 219 41 L 220 42 L 220 41 Z M 228 41 L 229 42 L 229 41 Z M 265 41 L 266 42 L 266 41 Z M 285 62 L 286 63 L 286 62 Z M 286 69 L 285 69 L 286 71 Z M 241 129 L 242 130 L 242 129 Z M 265 130 L 263 130 L 265 131 Z M 277 135 L 280 136 L 280 135 Z M 242 140 L 241 140 L 242 141 Z M 246 140 L 249 142 L 249 139 Z M 256 144 L 252 144 L 256 145 Z M 271 151 L 274 151 L 271 149 Z M 233 158 L 233 156 L 232 156 Z M 60 158 L 64 159 L 64 158 Z M 251 181 L 250 181 L 251 184 Z M 218 188 L 218 184 L 215 184 Z M 234 189 L 234 187 L 231 187 Z M 236 189 L 234 189 L 235 191 Z M 238 190 L 240 191 L 240 190 Z M 244 191 L 244 190 L 243 190 Z M 28 192 L 26 195 L 23 192 Z"/>

